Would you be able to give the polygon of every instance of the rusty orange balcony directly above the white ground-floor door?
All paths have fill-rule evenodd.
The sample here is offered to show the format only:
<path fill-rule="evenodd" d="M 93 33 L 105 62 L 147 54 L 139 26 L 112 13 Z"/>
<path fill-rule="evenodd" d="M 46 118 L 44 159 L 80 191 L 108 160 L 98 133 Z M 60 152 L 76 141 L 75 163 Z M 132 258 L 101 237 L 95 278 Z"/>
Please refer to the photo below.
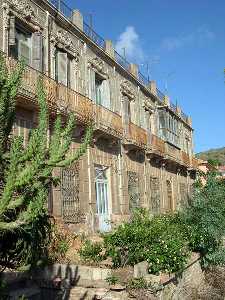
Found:
<path fill-rule="evenodd" d="M 107 108 L 95 105 L 95 121 L 97 129 L 121 138 L 123 135 L 122 118 Z"/>

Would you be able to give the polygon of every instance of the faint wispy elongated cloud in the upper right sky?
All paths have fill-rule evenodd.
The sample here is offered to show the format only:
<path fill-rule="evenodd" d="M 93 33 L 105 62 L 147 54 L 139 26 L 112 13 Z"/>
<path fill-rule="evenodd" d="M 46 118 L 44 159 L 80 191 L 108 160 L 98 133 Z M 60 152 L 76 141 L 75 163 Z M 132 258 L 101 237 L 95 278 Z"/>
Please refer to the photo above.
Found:
<path fill-rule="evenodd" d="M 211 30 L 206 26 L 201 26 L 189 34 L 180 35 L 178 37 L 167 37 L 163 39 L 161 46 L 171 51 L 194 43 L 202 44 L 214 38 L 215 34 Z"/>

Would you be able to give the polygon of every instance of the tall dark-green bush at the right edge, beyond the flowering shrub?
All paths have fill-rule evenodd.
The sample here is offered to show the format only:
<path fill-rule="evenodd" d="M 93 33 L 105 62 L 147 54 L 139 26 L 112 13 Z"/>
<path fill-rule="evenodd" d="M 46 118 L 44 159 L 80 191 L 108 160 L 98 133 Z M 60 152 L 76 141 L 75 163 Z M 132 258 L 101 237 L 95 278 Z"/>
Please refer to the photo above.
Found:
<path fill-rule="evenodd" d="M 183 212 L 183 222 L 190 228 L 189 245 L 204 260 L 212 260 L 225 235 L 225 185 L 214 172 L 207 176 L 205 186 L 196 188 L 190 206 Z M 210 258 L 211 257 L 211 258 Z"/>

